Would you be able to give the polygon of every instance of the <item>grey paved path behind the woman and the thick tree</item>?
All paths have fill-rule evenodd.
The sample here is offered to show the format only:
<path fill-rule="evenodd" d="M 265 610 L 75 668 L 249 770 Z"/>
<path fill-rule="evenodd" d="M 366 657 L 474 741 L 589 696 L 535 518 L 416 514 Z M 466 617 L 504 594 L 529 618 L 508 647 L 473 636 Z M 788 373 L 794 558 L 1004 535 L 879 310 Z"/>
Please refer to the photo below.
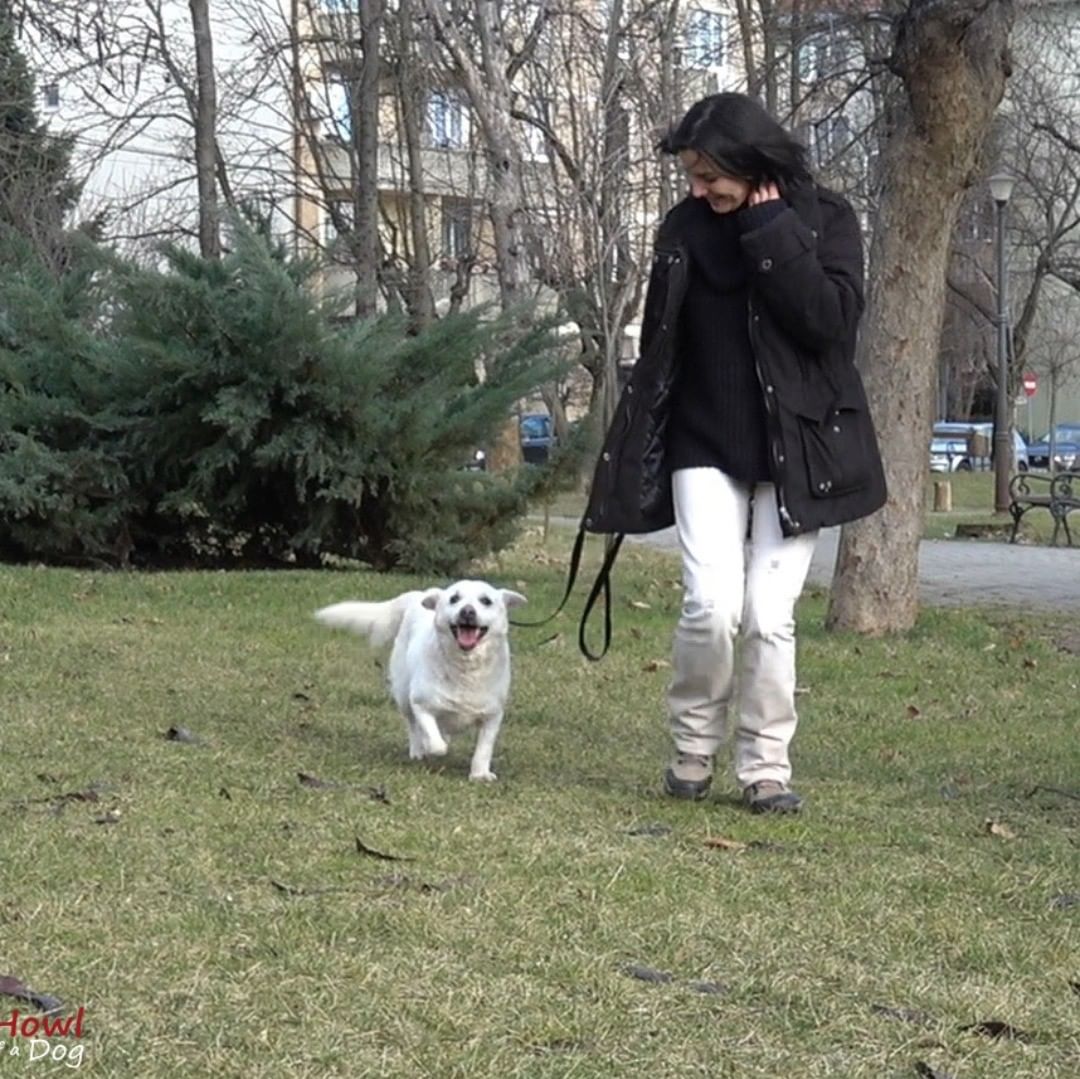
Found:
<path fill-rule="evenodd" d="M 826 528 L 810 565 L 810 582 L 833 580 L 838 528 Z M 675 529 L 633 537 L 676 550 Z M 998 604 L 1080 612 L 1080 548 L 1024 547 L 964 540 L 923 540 L 919 549 L 923 603 L 943 606 Z"/>

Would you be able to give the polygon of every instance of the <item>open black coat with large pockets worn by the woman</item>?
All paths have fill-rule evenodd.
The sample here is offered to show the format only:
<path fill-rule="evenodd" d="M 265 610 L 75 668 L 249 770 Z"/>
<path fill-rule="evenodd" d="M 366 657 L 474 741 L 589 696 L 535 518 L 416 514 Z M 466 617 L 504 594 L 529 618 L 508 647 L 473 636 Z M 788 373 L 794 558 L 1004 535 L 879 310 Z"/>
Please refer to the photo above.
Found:
<path fill-rule="evenodd" d="M 743 233 L 750 337 L 766 404 L 769 467 L 785 536 L 877 510 L 885 473 L 854 367 L 863 310 L 863 245 L 850 204 L 805 185 L 766 225 Z M 650 532 L 674 524 L 664 446 L 678 369 L 689 261 L 689 199 L 657 233 L 642 350 L 604 440 L 583 526 Z M 719 352 L 719 346 L 717 348 Z"/>

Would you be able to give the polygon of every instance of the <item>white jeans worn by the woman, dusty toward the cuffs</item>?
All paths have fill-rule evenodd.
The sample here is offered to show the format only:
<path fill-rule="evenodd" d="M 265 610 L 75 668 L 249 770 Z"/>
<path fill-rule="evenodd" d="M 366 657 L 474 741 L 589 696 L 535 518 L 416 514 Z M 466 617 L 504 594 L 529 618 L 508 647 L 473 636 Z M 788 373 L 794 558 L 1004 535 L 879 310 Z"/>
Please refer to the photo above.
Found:
<path fill-rule="evenodd" d="M 673 487 L 684 588 L 667 697 L 675 747 L 713 756 L 730 709 L 740 787 L 786 783 L 798 723 L 795 603 L 818 534 L 784 538 L 772 484 L 752 489 L 704 468 L 677 470 Z"/>

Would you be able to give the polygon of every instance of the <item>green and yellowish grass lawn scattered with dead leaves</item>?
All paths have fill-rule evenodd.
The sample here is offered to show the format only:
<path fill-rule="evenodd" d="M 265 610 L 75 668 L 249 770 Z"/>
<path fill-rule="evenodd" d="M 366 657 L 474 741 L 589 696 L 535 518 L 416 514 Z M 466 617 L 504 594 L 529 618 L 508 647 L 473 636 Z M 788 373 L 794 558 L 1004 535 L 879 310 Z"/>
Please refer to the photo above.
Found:
<path fill-rule="evenodd" d="M 568 545 L 477 571 L 540 616 Z M 410 765 L 362 644 L 310 617 L 421 582 L 0 567 L 0 974 L 83 1006 L 102 1076 L 1080 1075 L 1076 628 L 866 640 L 809 594 L 808 810 L 769 820 L 726 772 L 660 796 L 677 566 L 616 576 L 603 663 L 575 613 L 514 631 L 481 785 L 460 738 Z"/>

